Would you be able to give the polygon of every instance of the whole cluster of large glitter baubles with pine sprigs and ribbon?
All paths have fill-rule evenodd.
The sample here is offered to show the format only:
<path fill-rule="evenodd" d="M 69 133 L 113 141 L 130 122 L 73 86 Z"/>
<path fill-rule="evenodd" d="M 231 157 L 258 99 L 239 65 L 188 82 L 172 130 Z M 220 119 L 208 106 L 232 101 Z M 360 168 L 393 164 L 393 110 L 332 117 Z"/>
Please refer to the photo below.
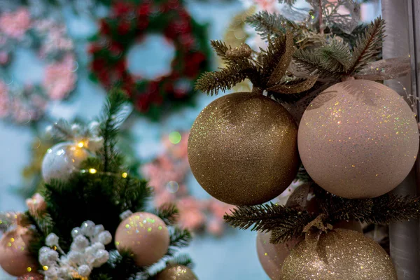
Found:
<path fill-rule="evenodd" d="M 197 116 L 188 139 L 195 179 L 238 206 L 225 221 L 259 231 L 258 257 L 271 279 L 396 280 L 391 258 L 360 233 L 359 221 L 419 213 L 415 199 L 386 195 L 416 162 L 419 127 L 405 99 L 380 81 L 406 74 L 409 63 L 372 62 L 384 36 L 380 18 L 355 35 L 352 48 L 321 26 L 320 43 L 308 47 L 296 38 L 305 27 L 282 15 L 248 20 L 267 50 L 212 41 L 225 67 L 197 81 L 207 94 L 245 78 L 253 90 L 219 97 Z M 264 204 L 295 179 L 308 183 L 286 206 Z M 395 205 L 400 213 L 388 215 Z"/>

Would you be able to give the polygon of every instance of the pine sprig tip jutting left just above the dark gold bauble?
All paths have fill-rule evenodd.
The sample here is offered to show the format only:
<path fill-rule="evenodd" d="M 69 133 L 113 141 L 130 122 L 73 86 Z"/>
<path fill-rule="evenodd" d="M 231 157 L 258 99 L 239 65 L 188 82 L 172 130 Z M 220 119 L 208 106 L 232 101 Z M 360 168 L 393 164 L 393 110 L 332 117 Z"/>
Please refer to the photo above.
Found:
<path fill-rule="evenodd" d="M 228 65 L 220 71 L 206 72 L 195 83 L 195 89 L 213 95 L 221 90 L 230 90 L 247 78 L 248 68 L 244 65 Z"/>

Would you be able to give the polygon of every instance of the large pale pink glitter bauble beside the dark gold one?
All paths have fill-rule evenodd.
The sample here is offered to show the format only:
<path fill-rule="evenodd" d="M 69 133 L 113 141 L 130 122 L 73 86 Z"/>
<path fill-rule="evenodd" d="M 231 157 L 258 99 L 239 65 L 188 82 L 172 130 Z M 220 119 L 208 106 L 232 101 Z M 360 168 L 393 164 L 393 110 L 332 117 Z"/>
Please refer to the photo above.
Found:
<path fill-rule="evenodd" d="M 348 80 L 309 104 L 297 141 L 319 186 L 341 197 L 368 198 L 388 193 L 409 174 L 419 128 L 397 92 L 370 80 Z"/>

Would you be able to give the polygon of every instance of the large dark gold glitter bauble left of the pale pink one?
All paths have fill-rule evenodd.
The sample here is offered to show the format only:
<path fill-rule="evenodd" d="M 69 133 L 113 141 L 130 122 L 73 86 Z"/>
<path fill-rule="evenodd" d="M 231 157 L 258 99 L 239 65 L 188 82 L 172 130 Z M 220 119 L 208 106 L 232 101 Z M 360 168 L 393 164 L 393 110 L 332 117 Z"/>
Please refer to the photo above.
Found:
<path fill-rule="evenodd" d="M 299 165 L 297 125 L 274 100 L 237 92 L 211 102 L 195 120 L 188 160 L 210 195 L 235 205 L 280 195 Z"/>

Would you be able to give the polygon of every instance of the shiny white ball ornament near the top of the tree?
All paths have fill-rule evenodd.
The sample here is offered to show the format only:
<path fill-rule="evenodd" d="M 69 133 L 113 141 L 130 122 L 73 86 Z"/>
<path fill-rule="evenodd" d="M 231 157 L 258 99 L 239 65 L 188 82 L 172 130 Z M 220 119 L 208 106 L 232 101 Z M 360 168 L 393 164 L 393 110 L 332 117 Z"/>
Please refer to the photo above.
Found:
<path fill-rule="evenodd" d="M 84 148 L 72 142 L 52 146 L 42 161 L 41 172 L 44 181 L 49 183 L 51 179 L 69 179 L 88 155 Z"/>

